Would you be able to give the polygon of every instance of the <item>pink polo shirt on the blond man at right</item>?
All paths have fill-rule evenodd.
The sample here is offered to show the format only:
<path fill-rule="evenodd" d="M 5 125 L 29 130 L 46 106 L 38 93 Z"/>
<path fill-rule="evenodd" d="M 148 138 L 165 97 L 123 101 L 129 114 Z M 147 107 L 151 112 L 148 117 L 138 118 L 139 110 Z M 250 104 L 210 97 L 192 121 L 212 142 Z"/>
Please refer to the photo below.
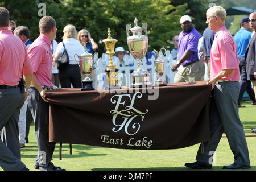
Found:
<path fill-rule="evenodd" d="M 236 69 L 222 80 L 239 81 L 239 60 L 237 57 L 237 44 L 232 35 L 222 26 L 214 36 L 212 49 L 210 49 L 210 78 L 215 77 L 224 69 Z"/>

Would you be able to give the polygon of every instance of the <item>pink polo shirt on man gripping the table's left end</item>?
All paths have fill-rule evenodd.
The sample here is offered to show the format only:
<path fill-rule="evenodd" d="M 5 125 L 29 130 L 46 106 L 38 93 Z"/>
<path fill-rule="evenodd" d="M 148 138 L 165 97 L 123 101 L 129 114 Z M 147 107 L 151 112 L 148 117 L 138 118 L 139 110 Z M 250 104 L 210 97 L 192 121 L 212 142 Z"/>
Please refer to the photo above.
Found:
<path fill-rule="evenodd" d="M 33 73 L 42 86 L 51 86 L 52 80 L 52 53 L 51 41 L 40 34 L 40 36 L 28 48 Z"/>

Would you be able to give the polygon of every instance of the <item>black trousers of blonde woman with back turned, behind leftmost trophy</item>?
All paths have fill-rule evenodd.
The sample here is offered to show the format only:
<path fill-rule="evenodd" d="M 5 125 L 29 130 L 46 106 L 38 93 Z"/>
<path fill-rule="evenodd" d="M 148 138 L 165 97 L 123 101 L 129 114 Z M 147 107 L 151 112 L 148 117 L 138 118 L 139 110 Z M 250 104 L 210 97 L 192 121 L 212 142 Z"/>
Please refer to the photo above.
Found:
<path fill-rule="evenodd" d="M 80 67 L 77 64 L 69 64 L 67 68 L 59 70 L 60 85 L 62 88 L 82 88 Z"/>

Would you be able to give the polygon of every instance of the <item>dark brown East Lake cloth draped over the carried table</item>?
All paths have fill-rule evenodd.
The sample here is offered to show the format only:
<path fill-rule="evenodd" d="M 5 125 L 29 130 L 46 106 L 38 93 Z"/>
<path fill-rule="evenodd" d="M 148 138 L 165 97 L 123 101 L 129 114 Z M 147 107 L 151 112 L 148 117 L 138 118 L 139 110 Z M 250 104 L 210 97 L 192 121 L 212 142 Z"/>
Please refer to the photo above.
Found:
<path fill-rule="evenodd" d="M 175 149 L 210 139 L 206 81 L 159 88 L 48 90 L 49 142 Z"/>

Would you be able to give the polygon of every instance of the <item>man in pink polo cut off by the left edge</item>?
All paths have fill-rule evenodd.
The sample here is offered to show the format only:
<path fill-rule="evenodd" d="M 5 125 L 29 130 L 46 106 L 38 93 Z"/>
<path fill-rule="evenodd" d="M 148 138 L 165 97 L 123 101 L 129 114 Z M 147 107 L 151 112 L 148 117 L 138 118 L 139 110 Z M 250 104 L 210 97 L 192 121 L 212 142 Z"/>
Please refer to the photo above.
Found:
<path fill-rule="evenodd" d="M 0 166 L 3 170 L 28 170 L 20 161 L 18 119 L 27 93 L 19 82 L 24 73 L 28 89 L 32 68 L 26 46 L 8 25 L 9 12 L 0 7 Z"/>

